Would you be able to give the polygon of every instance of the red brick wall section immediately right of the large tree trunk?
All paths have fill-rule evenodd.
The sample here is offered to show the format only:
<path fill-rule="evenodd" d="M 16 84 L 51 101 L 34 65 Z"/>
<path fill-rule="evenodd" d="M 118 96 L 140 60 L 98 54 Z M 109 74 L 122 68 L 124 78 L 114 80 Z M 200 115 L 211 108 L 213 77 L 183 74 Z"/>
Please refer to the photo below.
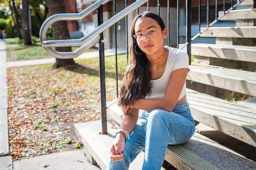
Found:
<path fill-rule="evenodd" d="M 77 13 L 76 11 L 76 0 L 64 0 L 65 11 L 66 13 Z M 68 20 L 68 30 L 69 32 L 77 31 L 77 21 Z"/>

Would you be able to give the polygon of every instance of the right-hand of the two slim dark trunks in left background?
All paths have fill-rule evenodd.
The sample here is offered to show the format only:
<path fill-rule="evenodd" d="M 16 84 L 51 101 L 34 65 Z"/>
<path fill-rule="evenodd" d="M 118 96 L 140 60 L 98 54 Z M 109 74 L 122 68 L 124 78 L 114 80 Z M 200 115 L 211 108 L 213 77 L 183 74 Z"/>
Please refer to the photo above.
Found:
<path fill-rule="evenodd" d="M 22 1 L 22 31 L 25 45 L 32 45 L 29 29 L 29 0 Z"/>

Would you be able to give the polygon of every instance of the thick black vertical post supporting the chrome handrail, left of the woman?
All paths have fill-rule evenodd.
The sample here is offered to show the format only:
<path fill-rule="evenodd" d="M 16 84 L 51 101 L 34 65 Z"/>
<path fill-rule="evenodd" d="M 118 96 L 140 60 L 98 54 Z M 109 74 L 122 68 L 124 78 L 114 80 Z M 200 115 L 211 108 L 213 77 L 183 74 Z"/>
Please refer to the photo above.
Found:
<path fill-rule="evenodd" d="M 98 13 L 98 26 L 103 23 L 103 5 L 97 10 Z M 102 134 L 107 134 L 106 128 L 106 86 L 105 86 L 105 61 L 104 61 L 104 37 L 100 33 L 99 41 L 99 75 L 100 75 L 100 99 L 101 99 L 101 122 Z"/>

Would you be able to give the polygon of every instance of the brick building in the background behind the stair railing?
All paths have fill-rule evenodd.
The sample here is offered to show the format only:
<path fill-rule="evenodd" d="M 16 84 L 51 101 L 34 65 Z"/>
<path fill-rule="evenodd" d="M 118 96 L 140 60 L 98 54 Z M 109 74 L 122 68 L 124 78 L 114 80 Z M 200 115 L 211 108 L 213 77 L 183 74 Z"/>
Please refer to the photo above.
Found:
<path fill-rule="evenodd" d="M 93 0 L 65 0 L 65 7 L 66 12 L 69 13 L 75 13 L 75 12 L 81 12 L 82 10 L 86 9 L 90 5 L 92 5 L 94 2 Z M 127 0 L 127 6 L 134 3 L 135 0 Z M 213 21 L 215 19 L 215 0 L 210 0 L 210 8 L 209 8 L 209 21 Z M 195 35 L 198 31 L 198 0 L 191 0 L 192 8 L 192 35 Z M 226 7 L 229 8 L 231 4 L 231 1 L 226 1 Z M 146 5 L 144 4 L 139 8 L 139 11 L 146 10 Z M 170 31 L 169 31 L 169 44 L 170 45 L 176 45 L 176 37 L 177 37 L 177 1 L 171 1 L 169 0 L 170 5 Z M 185 41 L 185 0 L 180 1 L 180 43 L 183 43 Z M 223 9 L 223 1 L 218 0 L 218 8 Z M 116 10 L 117 13 L 123 10 L 125 7 L 125 1 L 124 0 L 116 0 Z M 112 16 L 114 16 L 114 9 L 113 9 L 113 1 L 110 1 L 109 3 L 103 5 L 103 21 L 108 20 Z M 157 12 L 157 1 L 150 1 L 150 10 Z M 201 1 L 201 22 L 202 27 L 206 23 L 206 10 L 207 10 L 207 0 Z M 136 10 L 132 11 L 128 15 L 128 35 L 129 35 L 129 44 L 131 41 L 130 32 L 131 32 L 131 23 L 132 19 L 136 15 Z M 167 27 L 167 1 L 166 0 L 160 0 L 160 16 L 163 18 L 165 25 Z M 218 24 L 221 24 L 218 23 Z M 232 24 L 232 23 L 231 23 Z M 68 28 L 70 32 L 76 32 L 76 35 L 86 35 L 89 32 L 91 32 L 93 29 L 97 27 L 97 12 L 94 11 L 93 13 L 89 14 L 88 16 L 84 17 L 82 20 L 78 21 L 68 21 Z M 82 33 L 82 34 L 79 34 Z M 71 36 L 72 37 L 72 36 Z M 111 27 L 106 30 L 106 42 L 105 42 L 105 48 L 113 48 L 115 47 L 114 42 L 114 27 Z M 209 43 L 214 43 L 215 39 L 213 38 L 199 38 L 199 40 L 207 41 Z M 197 40 L 198 41 L 198 40 Z M 197 42 L 195 41 L 195 42 Z M 117 22 L 117 42 L 118 42 L 118 48 L 125 49 L 126 43 L 125 43 L 125 19 L 121 19 Z"/>

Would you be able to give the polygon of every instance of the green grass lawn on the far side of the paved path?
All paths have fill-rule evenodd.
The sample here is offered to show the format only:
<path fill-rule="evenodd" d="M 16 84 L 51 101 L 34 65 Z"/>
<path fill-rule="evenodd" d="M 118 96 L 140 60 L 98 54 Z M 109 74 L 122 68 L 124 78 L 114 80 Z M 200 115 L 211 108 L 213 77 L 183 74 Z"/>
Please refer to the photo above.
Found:
<path fill-rule="evenodd" d="M 33 60 L 41 58 L 52 58 L 45 49 L 41 46 L 40 42 L 36 42 L 35 45 L 24 45 L 18 38 L 14 38 L 13 41 L 6 41 L 7 44 L 7 62 L 20 61 L 20 60 Z M 78 47 L 72 47 L 72 51 L 75 51 Z M 95 51 L 91 48 L 87 52 Z"/>

